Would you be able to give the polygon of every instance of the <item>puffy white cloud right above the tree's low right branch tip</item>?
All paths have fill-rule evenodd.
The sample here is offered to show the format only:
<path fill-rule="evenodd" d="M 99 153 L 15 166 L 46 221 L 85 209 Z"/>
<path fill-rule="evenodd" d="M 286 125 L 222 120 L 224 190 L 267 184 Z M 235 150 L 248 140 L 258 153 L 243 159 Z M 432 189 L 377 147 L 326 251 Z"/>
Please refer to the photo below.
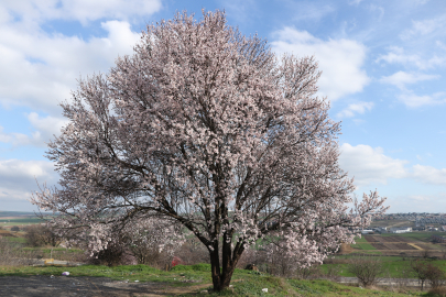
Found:
<path fill-rule="evenodd" d="M 339 164 L 349 176 L 355 176 L 358 186 L 387 184 L 389 178 L 407 176 L 404 165 L 407 161 L 384 155 L 381 147 L 345 143 L 340 146 Z"/>

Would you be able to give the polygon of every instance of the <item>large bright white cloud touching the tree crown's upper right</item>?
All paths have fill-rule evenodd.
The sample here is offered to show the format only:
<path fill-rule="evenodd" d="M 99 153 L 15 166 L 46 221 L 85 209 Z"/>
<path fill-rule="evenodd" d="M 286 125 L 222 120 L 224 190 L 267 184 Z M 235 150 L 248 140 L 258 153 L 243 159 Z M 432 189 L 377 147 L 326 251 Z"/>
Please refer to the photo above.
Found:
<path fill-rule="evenodd" d="M 366 58 L 366 46 L 351 40 L 319 40 L 306 31 L 285 28 L 275 32 L 272 48 L 279 54 L 312 56 L 319 62 L 323 72 L 320 94 L 336 100 L 342 96 L 362 91 L 369 77 L 361 68 Z"/>

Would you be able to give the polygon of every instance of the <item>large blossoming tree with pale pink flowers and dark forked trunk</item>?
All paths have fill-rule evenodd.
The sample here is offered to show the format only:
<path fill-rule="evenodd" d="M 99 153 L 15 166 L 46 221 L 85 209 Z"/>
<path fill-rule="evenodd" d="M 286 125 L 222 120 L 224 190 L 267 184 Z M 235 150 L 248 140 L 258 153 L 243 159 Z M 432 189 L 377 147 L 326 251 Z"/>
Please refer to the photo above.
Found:
<path fill-rule="evenodd" d="M 347 211 L 353 185 L 319 75 L 313 57 L 276 57 L 220 11 L 149 25 L 132 56 L 62 105 L 69 123 L 47 155 L 59 187 L 33 202 L 87 226 L 97 249 L 117 228 L 175 221 L 206 245 L 216 290 L 259 239 L 322 262 L 385 208 L 371 193 Z"/>

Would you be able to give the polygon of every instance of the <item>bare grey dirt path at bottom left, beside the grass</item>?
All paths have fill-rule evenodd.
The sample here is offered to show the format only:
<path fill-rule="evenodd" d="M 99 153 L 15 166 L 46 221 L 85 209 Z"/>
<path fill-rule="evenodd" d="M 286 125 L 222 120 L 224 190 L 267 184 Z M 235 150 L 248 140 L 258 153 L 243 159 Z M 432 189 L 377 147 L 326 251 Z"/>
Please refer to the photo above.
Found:
<path fill-rule="evenodd" d="M 188 287 L 171 287 L 167 283 L 126 283 L 107 277 L 72 276 L 3 276 L 0 277 L 1 297 L 154 297 L 194 293 L 210 284 Z"/>

